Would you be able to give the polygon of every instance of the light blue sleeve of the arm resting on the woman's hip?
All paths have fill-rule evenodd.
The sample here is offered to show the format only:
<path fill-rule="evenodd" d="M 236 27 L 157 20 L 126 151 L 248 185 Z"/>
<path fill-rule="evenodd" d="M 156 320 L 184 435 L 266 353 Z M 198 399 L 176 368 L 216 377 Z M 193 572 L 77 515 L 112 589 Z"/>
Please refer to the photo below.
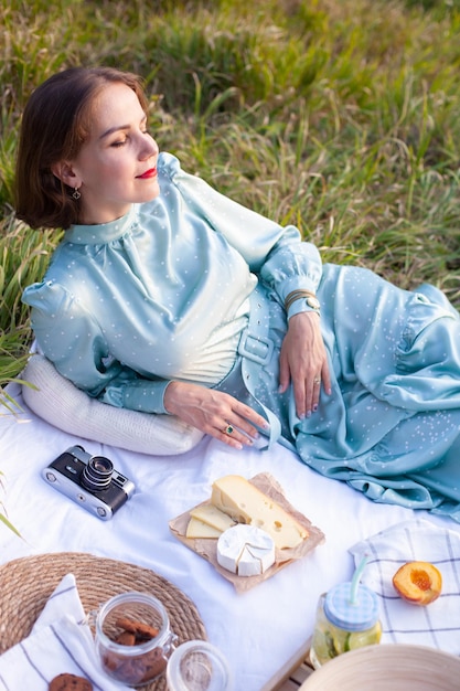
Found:
<path fill-rule="evenodd" d="M 322 275 L 321 256 L 315 245 L 302 242 L 297 227 L 282 227 L 232 201 L 201 178 L 182 171 L 178 159 L 165 156 L 173 183 L 186 204 L 226 237 L 250 270 L 276 291 L 281 304 L 292 290 L 317 291 Z M 295 302 L 289 316 L 300 309 L 303 308 Z"/>

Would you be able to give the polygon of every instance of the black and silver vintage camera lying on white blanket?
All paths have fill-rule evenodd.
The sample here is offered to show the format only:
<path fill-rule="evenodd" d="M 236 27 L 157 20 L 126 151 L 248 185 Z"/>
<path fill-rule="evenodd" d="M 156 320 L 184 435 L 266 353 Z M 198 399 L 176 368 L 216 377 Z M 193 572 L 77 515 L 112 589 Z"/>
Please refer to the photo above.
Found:
<path fill-rule="evenodd" d="M 135 485 L 114 469 L 105 456 L 92 456 L 83 446 L 71 446 L 42 470 L 54 487 L 97 518 L 107 521 L 132 497 Z"/>

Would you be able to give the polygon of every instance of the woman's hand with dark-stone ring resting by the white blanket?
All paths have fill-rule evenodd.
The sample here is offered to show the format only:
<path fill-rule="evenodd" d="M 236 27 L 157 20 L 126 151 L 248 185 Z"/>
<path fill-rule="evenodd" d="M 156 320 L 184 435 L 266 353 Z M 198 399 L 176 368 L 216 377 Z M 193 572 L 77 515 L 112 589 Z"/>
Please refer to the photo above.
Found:
<path fill-rule="evenodd" d="M 234 396 L 188 382 L 171 382 L 164 392 L 164 407 L 183 422 L 233 448 L 250 446 L 268 423 Z"/>

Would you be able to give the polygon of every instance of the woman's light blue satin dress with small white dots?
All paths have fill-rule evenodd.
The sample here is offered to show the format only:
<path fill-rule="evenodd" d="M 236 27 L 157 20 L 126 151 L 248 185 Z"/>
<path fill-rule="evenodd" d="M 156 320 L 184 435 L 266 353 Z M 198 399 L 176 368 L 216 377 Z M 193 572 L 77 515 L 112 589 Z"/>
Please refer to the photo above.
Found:
<path fill-rule="evenodd" d="M 322 265 L 297 228 L 228 200 L 175 157 L 161 153 L 158 170 L 158 199 L 72 226 L 44 280 L 24 290 L 44 354 L 90 395 L 131 410 L 165 413 L 171 380 L 231 391 L 319 472 L 456 518 L 451 470 L 445 492 L 424 481 L 460 449 L 460 316 L 446 297 Z M 278 393 L 287 320 L 309 309 L 297 301 L 286 313 L 298 288 L 320 299 L 332 379 L 302 421 L 292 392 Z"/>

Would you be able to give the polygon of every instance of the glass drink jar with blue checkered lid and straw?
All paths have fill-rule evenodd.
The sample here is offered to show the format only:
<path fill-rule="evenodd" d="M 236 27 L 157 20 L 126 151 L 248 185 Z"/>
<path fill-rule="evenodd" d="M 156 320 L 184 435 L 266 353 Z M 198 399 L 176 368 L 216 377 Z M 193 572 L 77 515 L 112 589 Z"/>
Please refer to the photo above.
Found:
<path fill-rule="evenodd" d="M 319 599 L 310 661 L 318 669 L 343 652 L 378 644 L 381 636 L 375 593 L 365 585 L 341 583 Z"/>

